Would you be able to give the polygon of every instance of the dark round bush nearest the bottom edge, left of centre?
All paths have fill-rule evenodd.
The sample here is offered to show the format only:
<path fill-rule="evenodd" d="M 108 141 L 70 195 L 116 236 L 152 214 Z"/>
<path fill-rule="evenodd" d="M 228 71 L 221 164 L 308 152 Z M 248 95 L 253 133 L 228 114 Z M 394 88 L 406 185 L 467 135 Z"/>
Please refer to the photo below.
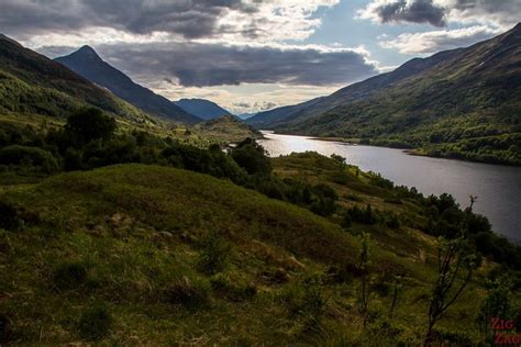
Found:
<path fill-rule="evenodd" d="M 112 316 L 104 305 L 98 304 L 81 313 L 78 331 L 79 335 L 87 340 L 99 340 L 109 334 L 111 326 Z"/>

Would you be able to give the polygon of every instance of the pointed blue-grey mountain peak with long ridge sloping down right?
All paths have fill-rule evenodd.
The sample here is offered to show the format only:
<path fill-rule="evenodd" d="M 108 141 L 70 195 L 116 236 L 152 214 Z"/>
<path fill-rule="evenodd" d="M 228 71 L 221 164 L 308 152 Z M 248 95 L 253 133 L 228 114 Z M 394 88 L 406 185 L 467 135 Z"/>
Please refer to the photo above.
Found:
<path fill-rule="evenodd" d="M 188 124 L 201 121 L 168 99 L 135 83 L 126 75 L 103 61 L 89 46 L 84 46 L 75 53 L 55 60 L 146 112 Z"/>

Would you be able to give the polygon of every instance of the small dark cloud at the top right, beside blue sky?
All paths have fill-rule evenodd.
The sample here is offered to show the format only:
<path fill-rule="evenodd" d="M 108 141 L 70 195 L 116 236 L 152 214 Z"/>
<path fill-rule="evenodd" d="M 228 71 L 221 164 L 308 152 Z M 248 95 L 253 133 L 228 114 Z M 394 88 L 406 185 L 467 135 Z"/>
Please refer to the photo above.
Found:
<path fill-rule="evenodd" d="M 412 22 L 429 23 L 434 26 L 445 25 L 444 9 L 434 5 L 432 0 L 415 0 L 412 3 L 400 0 L 381 4 L 376 11 L 383 23 Z"/>

